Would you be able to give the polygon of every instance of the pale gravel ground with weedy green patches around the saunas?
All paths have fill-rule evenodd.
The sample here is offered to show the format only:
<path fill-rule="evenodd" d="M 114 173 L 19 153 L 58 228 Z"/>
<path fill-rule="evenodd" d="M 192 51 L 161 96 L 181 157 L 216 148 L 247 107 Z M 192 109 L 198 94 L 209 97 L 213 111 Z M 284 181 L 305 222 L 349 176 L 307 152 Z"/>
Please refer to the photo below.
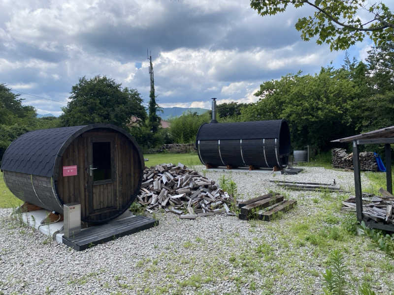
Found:
<path fill-rule="evenodd" d="M 348 294 L 364 281 L 377 294 L 394 290 L 391 259 L 367 238 L 341 230 L 338 204 L 344 196 L 283 190 L 269 182 L 335 178 L 352 191 L 351 172 L 206 173 L 216 181 L 222 175 L 236 182 L 240 199 L 274 190 L 298 204 L 272 222 L 227 215 L 180 220 L 156 212 L 157 227 L 81 252 L 21 226 L 8 217 L 11 209 L 0 209 L 0 294 L 322 294 L 332 249 L 342 250 L 349 269 Z M 313 239 L 330 229 L 339 236 Z"/>

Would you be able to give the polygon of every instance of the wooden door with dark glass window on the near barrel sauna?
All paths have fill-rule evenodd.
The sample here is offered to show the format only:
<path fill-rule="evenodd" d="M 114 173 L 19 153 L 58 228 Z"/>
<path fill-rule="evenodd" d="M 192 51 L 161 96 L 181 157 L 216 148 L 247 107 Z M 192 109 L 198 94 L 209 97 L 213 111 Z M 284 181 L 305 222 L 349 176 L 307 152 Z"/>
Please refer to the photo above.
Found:
<path fill-rule="evenodd" d="M 99 221 L 118 210 L 115 137 L 90 136 L 88 142 L 88 219 Z"/>

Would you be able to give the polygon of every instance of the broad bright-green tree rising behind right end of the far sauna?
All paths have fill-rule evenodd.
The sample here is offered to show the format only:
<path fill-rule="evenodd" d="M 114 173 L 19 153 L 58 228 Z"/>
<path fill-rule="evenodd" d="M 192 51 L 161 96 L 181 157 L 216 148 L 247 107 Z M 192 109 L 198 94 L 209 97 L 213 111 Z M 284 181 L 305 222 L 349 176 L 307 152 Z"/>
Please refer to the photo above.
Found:
<path fill-rule="evenodd" d="M 328 150 L 330 141 L 354 134 L 354 102 L 363 93 L 349 71 L 322 68 L 319 74 L 288 74 L 263 83 L 257 103 L 242 109 L 243 120 L 284 118 L 293 148 L 313 145 Z"/>

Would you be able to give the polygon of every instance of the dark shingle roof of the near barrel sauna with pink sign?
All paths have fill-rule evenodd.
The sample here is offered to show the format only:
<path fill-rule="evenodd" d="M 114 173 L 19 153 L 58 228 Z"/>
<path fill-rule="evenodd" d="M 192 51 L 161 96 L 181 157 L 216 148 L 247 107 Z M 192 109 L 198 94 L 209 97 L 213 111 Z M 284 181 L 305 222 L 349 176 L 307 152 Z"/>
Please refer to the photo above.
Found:
<path fill-rule="evenodd" d="M 1 170 L 52 177 L 60 149 L 84 127 L 34 130 L 21 135 L 5 151 Z"/>

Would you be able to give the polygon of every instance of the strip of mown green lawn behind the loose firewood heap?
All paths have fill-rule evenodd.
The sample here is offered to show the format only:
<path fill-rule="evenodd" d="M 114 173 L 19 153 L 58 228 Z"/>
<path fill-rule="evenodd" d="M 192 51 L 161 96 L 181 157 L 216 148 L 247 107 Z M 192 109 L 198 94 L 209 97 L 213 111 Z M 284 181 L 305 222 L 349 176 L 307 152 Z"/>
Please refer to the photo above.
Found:
<path fill-rule="evenodd" d="M 186 153 L 186 154 L 172 154 L 172 153 L 157 153 L 157 154 L 145 154 L 144 158 L 148 158 L 149 161 L 145 162 L 146 166 L 156 166 L 163 163 L 172 163 L 174 165 L 179 162 L 186 166 L 202 165 L 198 159 L 197 153 Z"/>

